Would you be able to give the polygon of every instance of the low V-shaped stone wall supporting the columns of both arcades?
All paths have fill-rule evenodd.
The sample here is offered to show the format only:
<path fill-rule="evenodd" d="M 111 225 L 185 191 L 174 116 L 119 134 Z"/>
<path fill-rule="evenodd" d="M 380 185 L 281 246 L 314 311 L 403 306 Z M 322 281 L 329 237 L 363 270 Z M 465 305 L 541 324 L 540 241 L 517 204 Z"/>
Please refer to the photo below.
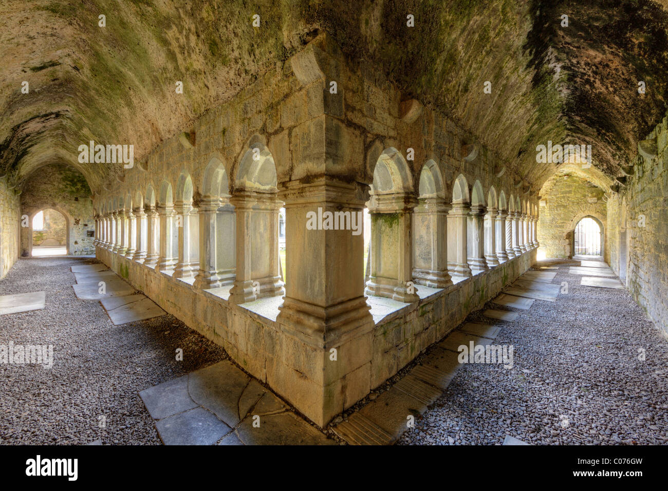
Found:
<path fill-rule="evenodd" d="M 445 337 L 536 260 L 536 249 L 420 302 L 407 304 L 341 345 L 314 347 L 277 324 L 188 283 L 96 248 L 97 257 L 166 312 L 221 345 L 248 373 L 269 384 L 307 418 L 325 426 Z M 418 287 L 419 288 L 419 287 Z M 338 353 L 330 363 L 331 348 Z M 327 376 L 323 377 L 323 372 Z M 334 380 L 329 385 L 323 380 Z"/>

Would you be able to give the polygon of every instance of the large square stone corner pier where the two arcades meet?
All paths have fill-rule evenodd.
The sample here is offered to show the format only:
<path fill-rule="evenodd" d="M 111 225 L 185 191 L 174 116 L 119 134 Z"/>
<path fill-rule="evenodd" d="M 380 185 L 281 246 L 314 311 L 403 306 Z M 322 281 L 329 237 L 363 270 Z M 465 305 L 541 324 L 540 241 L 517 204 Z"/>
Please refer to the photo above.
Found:
<path fill-rule="evenodd" d="M 338 347 L 373 328 L 363 291 L 364 194 L 361 184 L 334 178 L 280 186 L 287 264 L 276 322 L 319 349 Z M 371 357 L 370 352 L 355 355 Z"/>

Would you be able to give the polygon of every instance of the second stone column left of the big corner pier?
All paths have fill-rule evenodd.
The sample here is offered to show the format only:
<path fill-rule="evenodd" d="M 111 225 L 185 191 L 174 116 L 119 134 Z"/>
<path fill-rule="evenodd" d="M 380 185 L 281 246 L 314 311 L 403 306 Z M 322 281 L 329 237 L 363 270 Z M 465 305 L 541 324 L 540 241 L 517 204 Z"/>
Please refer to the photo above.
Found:
<path fill-rule="evenodd" d="M 234 283 L 236 225 L 228 198 L 204 196 L 199 203 L 200 266 L 195 287 L 206 290 Z"/>

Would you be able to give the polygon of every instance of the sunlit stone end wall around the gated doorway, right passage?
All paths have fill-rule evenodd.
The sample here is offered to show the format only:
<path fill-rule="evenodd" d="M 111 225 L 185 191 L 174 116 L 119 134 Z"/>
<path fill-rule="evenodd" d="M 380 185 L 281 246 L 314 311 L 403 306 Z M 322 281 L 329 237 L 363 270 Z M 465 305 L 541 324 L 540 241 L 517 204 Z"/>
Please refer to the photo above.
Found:
<path fill-rule="evenodd" d="M 572 231 L 585 216 L 603 224 L 603 255 L 607 255 L 607 205 L 605 191 L 592 182 L 573 174 L 556 174 L 542 188 L 538 242 L 545 257 L 572 256 Z"/>

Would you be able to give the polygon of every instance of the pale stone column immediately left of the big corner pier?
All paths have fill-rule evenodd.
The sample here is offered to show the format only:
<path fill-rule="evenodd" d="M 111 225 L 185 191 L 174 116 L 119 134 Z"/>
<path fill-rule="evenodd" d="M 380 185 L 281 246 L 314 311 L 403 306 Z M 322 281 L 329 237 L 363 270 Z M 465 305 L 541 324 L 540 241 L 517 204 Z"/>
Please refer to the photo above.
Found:
<path fill-rule="evenodd" d="M 236 278 L 231 303 L 285 295 L 279 272 L 279 209 L 276 194 L 243 190 L 230 202 L 236 210 Z"/>

